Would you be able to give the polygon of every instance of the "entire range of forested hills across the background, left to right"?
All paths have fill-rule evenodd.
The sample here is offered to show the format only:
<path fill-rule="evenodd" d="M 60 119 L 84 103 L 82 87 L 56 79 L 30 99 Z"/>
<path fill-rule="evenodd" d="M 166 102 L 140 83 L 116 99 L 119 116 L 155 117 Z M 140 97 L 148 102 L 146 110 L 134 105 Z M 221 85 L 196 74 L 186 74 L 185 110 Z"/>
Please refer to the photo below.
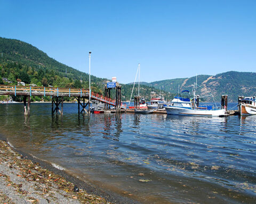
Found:
<path fill-rule="evenodd" d="M 17 39 L 0 37 L 0 78 L 7 78 L 17 84 L 17 80 L 38 86 L 89 88 L 89 74 L 74 69 L 49 57 L 35 46 Z M 2 80 L 0 80 L 1 82 Z M 91 87 L 103 93 L 109 79 L 91 75 Z M 141 94 L 147 100 L 150 92 L 172 99 L 180 90 L 191 92 L 197 81 L 197 94 L 205 100 L 220 101 L 221 95 L 228 95 L 229 101 L 237 101 L 238 96 L 256 95 L 256 73 L 229 71 L 216 75 L 197 75 L 190 78 L 166 79 L 154 82 L 140 82 Z M 122 100 L 129 100 L 133 83 L 122 84 Z M 138 92 L 135 86 L 134 93 Z M 135 94 L 134 94 L 135 95 Z M 114 98 L 114 94 L 111 96 Z"/>

